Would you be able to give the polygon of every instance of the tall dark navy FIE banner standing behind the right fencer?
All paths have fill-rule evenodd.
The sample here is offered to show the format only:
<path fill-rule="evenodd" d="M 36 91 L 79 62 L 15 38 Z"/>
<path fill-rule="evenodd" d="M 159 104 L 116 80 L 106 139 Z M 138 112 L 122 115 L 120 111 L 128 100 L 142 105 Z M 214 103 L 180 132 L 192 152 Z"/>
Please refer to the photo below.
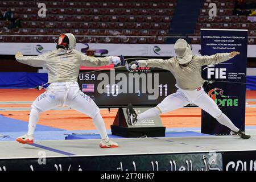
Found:
<path fill-rule="evenodd" d="M 202 55 L 238 51 L 240 55 L 202 68 L 204 80 L 213 80 L 205 90 L 239 129 L 245 129 L 247 30 L 201 29 Z M 240 82 L 240 83 L 238 83 Z M 228 135 L 230 129 L 202 110 L 201 132 Z"/>

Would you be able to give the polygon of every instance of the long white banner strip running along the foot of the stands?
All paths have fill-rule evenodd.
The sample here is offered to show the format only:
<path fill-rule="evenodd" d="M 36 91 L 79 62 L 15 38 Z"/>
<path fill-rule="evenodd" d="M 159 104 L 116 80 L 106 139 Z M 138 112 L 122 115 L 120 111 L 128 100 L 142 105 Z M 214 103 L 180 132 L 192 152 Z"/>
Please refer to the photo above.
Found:
<path fill-rule="evenodd" d="M 21 51 L 23 55 L 39 55 L 55 49 L 55 43 L 0 43 L 0 55 L 15 55 Z M 192 44 L 193 55 L 200 53 L 201 46 Z M 87 44 L 77 43 L 77 51 L 86 52 L 93 49 L 96 56 L 123 55 L 123 56 L 175 56 L 174 44 Z M 256 45 L 248 46 L 248 57 L 256 57 Z"/>

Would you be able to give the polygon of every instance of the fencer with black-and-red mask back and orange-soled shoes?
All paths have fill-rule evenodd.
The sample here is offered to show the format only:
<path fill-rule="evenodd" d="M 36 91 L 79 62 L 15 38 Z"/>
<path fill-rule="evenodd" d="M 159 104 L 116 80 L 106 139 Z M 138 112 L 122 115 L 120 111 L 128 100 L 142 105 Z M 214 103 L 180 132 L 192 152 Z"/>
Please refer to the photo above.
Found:
<path fill-rule="evenodd" d="M 118 64 L 120 58 L 117 56 L 90 57 L 76 51 L 76 38 L 73 34 L 61 34 L 55 42 L 57 49 L 39 56 L 23 56 L 21 52 L 15 55 L 20 63 L 32 67 L 46 67 L 49 83 L 46 92 L 38 96 L 31 105 L 28 133 L 17 138 L 16 141 L 32 144 L 40 113 L 56 106 L 68 105 L 93 118 L 93 123 L 102 138 L 101 148 L 118 147 L 118 144 L 108 137 L 98 106 L 89 96 L 81 92 L 77 77 L 81 66 L 100 67 L 112 63 Z"/>

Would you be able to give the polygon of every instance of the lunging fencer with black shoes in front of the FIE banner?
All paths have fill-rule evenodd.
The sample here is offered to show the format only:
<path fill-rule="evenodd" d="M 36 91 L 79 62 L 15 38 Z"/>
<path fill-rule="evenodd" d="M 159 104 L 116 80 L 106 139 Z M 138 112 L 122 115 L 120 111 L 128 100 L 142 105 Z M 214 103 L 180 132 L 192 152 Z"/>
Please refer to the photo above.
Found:
<path fill-rule="evenodd" d="M 216 102 L 204 92 L 204 80 L 201 77 L 203 65 L 218 64 L 240 54 L 239 52 L 217 53 L 212 56 L 193 56 L 191 46 L 184 40 L 178 39 L 174 46 L 176 56 L 171 59 L 148 59 L 131 62 L 130 69 L 138 67 L 157 67 L 167 69 L 176 79 L 177 92 L 170 94 L 164 100 L 142 114 L 137 115 L 132 105 L 127 106 L 129 123 L 133 125 L 137 120 L 154 118 L 160 113 L 167 113 L 188 104 L 195 104 L 207 111 L 212 117 L 226 127 L 229 127 L 230 134 L 241 138 L 250 138 L 244 131 L 239 130 L 232 121 L 218 108 Z"/>

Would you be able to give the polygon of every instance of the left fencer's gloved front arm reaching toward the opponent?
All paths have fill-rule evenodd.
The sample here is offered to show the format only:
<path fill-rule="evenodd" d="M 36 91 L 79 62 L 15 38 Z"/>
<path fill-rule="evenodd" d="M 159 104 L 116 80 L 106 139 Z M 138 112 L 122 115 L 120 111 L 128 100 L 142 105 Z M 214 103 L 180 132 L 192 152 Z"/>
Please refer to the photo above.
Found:
<path fill-rule="evenodd" d="M 107 57 L 92 57 L 86 56 L 80 53 L 81 65 L 86 67 L 101 67 L 109 64 L 120 63 L 120 58 L 118 56 L 107 56 Z"/>

